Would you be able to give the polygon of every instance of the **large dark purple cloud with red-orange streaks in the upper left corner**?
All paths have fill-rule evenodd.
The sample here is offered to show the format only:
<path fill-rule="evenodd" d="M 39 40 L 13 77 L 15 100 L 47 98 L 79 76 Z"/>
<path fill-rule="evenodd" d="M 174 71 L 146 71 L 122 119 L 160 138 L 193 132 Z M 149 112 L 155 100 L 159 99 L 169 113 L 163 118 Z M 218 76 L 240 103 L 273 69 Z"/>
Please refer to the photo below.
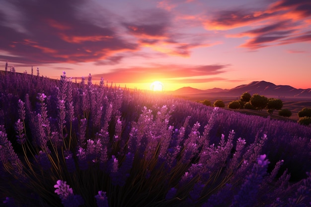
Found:
<path fill-rule="evenodd" d="M 0 24 L 1 49 L 14 57 L 0 55 L 12 62 L 46 64 L 93 62 L 124 51 L 137 51 L 138 45 L 128 42 L 103 19 L 98 26 L 80 18 L 77 8 L 83 0 L 40 0 L 6 2 L 8 10 L 0 10 L 0 22 L 10 22 L 7 13 L 23 14 L 14 24 Z M 14 10 L 10 10 L 14 9 Z M 23 29 L 21 29 L 23 28 Z"/>

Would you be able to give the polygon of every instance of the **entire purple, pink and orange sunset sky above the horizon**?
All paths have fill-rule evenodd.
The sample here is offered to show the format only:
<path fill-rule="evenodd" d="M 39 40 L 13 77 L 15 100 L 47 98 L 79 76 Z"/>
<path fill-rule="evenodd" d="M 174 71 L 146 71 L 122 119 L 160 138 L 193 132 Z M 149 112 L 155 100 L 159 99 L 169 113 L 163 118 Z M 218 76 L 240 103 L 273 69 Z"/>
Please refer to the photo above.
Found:
<path fill-rule="evenodd" d="M 0 69 L 121 87 L 311 88 L 311 0 L 0 0 Z"/>

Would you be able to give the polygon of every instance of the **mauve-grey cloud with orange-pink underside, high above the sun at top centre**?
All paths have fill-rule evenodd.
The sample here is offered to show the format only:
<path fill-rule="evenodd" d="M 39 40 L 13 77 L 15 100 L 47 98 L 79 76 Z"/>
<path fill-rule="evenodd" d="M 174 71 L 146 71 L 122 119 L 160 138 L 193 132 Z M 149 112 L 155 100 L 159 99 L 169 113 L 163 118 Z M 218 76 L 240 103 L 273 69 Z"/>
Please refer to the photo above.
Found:
<path fill-rule="evenodd" d="M 161 2 L 177 3 L 168 0 Z M 147 47 L 167 56 L 189 57 L 194 48 L 212 47 L 219 44 L 219 42 L 210 41 L 209 34 L 191 33 L 191 28 L 198 26 L 198 20 L 194 16 L 185 19 L 185 14 L 159 8 L 137 9 L 135 13 L 140 15 L 136 15 L 131 21 L 125 21 L 123 26 L 136 38 L 141 48 Z M 180 24 L 183 23 L 189 29 L 180 32 Z"/>

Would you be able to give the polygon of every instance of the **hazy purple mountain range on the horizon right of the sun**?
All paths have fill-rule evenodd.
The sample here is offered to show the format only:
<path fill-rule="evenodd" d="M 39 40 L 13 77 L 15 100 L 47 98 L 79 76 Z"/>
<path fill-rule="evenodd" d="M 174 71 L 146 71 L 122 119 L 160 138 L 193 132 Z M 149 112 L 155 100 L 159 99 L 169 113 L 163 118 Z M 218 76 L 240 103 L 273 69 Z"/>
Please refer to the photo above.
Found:
<path fill-rule="evenodd" d="M 258 93 L 273 97 L 311 97 L 311 88 L 297 89 L 290 85 L 275 85 L 266 81 L 253 81 L 248 84 L 236 86 L 232 89 L 212 88 L 200 90 L 197 88 L 183 87 L 172 92 L 174 95 L 204 95 L 204 96 L 240 96 L 248 92 L 251 95 Z"/>

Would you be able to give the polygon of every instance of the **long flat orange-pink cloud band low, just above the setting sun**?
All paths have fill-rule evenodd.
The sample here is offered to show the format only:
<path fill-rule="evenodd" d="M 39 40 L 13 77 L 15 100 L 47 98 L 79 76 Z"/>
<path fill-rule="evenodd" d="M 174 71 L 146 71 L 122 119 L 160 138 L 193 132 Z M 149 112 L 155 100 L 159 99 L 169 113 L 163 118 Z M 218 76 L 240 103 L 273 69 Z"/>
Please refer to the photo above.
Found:
<path fill-rule="evenodd" d="M 102 74 L 92 74 L 99 79 L 104 77 L 109 81 L 118 83 L 140 83 L 150 82 L 155 79 L 193 79 L 200 81 L 196 76 L 217 75 L 226 72 L 230 65 L 203 65 L 203 66 L 181 66 L 153 64 L 149 67 L 118 68 Z M 201 77 L 202 78 L 202 77 Z"/>

